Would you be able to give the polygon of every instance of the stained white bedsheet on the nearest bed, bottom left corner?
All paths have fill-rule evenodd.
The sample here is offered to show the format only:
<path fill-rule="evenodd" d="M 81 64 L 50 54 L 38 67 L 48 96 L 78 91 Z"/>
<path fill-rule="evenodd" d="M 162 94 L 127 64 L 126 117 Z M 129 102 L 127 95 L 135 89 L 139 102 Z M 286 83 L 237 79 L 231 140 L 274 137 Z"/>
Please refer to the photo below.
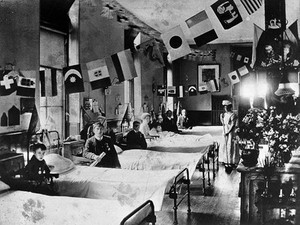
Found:
<path fill-rule="evenodd" d="M 134 210 L 116 200 L 54 197 L 25 191 L 0 194 L 0 207 L 3 225 L 117 225 Z M 150 207 L 146 207 L 134 217 L 135 221 L 150 212 Z"/>

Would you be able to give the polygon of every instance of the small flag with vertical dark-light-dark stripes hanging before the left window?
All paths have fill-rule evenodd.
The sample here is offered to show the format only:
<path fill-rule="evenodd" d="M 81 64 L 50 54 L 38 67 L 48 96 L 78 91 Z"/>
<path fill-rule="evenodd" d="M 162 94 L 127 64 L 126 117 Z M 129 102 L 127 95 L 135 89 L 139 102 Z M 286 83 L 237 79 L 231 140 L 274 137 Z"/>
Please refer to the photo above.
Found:
<path fill-rule="evenodd" d="M 57 95 L 56 69 L 45 68 L 40 71 L 41 96 L 52 97 Z"/>

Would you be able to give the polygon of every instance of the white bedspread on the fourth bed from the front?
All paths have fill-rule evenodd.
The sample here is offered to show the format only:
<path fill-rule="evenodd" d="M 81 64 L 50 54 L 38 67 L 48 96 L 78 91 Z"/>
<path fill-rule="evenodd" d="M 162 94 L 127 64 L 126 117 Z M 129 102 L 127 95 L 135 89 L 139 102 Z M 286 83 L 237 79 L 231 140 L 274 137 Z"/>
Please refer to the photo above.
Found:
<path fill-rule="evenodd" d="M 174 134 L 147 141 L 147 148 L 154 151 L 191 153 L 202 152 L 213 143 L 214 140 L 210 134 L 203 136 Z"/>

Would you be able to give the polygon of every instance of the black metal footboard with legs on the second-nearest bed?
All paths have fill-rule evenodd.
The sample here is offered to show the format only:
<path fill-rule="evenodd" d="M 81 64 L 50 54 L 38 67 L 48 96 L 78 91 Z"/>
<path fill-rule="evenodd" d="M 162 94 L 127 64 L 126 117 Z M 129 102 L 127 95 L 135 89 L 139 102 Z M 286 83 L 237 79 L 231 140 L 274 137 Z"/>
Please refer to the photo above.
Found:
<path fill-rule="evenodd" d="M 184 176 L 184 173 L 186 173 L 186 176 Z M 173 210 L 174 210 L 174 222 L 173 224 L 178 224 L 177 220 L 177 209 L 180 203 L 184 200 L 185 197 L 187 197 L 187 204 L 188 204 L 188 214 L 191 214 L 191 192 L 190 192 L 190 178 L 189 178 L 189 170 L 187 168 L 183 169 L 177 176 L 174 178 L 174 183 L 170 188 L 169 191 L 169 197 L 174 200 L 173 204 Z M 185 184 L 187 186 L 187 190 L 184 193 L 184 195 L 177 201 L 178 199 L 178 192 L 177 188 L 181 186 L 182 184 Z"/>

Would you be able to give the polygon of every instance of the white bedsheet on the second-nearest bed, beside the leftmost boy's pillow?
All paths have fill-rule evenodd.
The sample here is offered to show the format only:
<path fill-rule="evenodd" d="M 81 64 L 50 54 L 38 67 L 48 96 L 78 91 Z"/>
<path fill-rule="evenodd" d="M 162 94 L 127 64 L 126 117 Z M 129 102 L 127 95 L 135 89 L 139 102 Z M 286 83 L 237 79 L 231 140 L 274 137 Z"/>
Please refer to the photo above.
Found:
<path fill-rule="evenodd" d="M 76 166 L 55 179 L 62 196 L 117 200 L 137 207 L 146 200 L 160 210 L 169 182 L 179 170 L 142 171 Z"/>

